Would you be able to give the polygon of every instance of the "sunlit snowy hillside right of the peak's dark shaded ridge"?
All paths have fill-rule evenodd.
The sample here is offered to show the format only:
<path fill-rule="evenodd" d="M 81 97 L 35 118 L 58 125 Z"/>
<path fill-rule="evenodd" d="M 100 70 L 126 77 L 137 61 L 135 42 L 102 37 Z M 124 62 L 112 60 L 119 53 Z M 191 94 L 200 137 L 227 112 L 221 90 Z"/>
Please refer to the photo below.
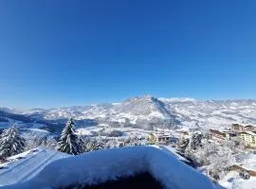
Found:
<path fill-rule="evenodd" d="M 233 123 L 256 124 L 256 100 L 164 100 L 182 127 L 229 128 Z"/>

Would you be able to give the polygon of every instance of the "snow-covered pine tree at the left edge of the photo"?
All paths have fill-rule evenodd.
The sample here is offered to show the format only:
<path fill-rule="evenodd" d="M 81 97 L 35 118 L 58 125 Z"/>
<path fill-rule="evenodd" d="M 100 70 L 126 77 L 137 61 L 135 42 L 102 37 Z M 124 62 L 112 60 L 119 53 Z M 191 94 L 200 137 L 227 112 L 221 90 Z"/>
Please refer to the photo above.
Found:
<path fill-rule="evenodd" d="M 7 158 L 22 153 L 25 147 L 26 141 L 15 126 L 4 130 L 0 136 L 0 157 Z"/>

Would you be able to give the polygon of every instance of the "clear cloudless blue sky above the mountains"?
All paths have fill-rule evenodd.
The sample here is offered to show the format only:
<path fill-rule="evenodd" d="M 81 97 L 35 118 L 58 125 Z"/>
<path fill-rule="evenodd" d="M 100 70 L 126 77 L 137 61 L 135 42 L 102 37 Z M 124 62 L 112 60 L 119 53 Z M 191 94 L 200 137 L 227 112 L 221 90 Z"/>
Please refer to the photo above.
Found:
<path fill-rule="evenodd" d="M 255 98 L 256 1 L 1 0 L 0 106 Z"/>

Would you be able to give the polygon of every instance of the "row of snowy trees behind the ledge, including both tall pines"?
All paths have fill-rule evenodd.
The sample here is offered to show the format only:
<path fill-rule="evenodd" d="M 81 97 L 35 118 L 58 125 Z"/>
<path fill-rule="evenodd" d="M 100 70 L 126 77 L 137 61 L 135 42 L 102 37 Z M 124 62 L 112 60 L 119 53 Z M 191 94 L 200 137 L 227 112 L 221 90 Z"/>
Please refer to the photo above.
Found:
<path fill-rule="evenodd" d="M 119 135 L 117 131 L 112 131 L 111 136 Z M 30 134 L 29 134 L 30 135 Z M 32 135 L 32 134 L 31 134 Z M 9 129 L 5 129 L 0 135 L 0 158 L 6 159 L 10 156 L 24 152 L 38 146 L 47 146 L 57 149 L 61 152 L 71 155 L 78 155 L 83 152 L 90 152 L 94 150 L 107 149 L 122 146 L 140 146 L 148 145 L 146 139 L 138 139 L 137 137 L 128 137 L 125 139 L 106 139 L 98 137 L 97 139 L 88 136 L 78 135 L 75 129 L 75 122 L 70 118 L 59 139 L 48 136 L 30 136 L 25 139 L 15 125 Z"/>

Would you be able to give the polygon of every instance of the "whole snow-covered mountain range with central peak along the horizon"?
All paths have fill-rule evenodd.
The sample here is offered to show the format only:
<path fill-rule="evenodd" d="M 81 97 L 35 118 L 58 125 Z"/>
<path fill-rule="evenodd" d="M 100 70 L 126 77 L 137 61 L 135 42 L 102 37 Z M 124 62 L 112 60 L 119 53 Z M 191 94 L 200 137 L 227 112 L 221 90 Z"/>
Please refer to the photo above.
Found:
<path fill-rule="evenodd" d="M 2 109 L 2 112 L 10 109 Z M 15 111 L 16 112 L 16 111 Z M 256 100 L 196 100 L 193 98 L 133 97 L 120 103 L 58 109 L 33 109 L 22 116 L 32 120 L 64 123 L 75 117 L 80 125 L 153 128 L 229 128 L 233 123 L 256 124 Z M 91 122 L 90 122 L 91 123 Z"/>

